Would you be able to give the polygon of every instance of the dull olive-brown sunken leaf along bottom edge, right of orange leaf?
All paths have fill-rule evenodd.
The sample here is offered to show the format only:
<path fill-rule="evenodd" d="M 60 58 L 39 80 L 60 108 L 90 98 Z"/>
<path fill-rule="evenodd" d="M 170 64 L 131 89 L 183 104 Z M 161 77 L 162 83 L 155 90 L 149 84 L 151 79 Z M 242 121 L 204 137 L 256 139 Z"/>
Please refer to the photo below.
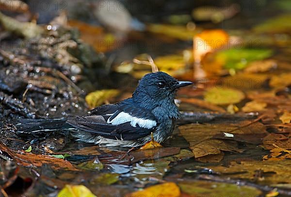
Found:
<path fill-rule="evenodd" d="M 196 181 L 196 182 L 180 182 L 178 183 L 181 188 L 181 192 L 190 194 L 193 196 L 259 196 L 261 191 L 255 187 L 239 186 L 236 184 L 224 183 L 224 182 L 208 182 L 208 181 Z"/>

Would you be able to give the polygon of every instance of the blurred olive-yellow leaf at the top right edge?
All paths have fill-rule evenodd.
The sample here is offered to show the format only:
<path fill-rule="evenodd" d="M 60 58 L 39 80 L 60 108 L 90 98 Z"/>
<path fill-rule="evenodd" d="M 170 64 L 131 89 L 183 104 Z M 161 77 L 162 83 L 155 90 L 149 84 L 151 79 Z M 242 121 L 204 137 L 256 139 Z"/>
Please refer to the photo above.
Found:
<path fill-rule="evenodd" d="M 254 30 L 259 33 L 280 33 L 289 32 L 291 15 L 279 15 L 257 25 Z"/>

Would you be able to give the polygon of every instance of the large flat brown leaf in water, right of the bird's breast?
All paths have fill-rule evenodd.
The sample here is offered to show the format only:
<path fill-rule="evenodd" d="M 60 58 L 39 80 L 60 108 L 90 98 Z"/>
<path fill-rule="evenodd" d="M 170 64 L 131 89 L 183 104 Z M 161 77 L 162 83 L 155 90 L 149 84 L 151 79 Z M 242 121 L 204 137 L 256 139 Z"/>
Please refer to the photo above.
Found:
<path fill-rule="evenodd" d="M 249 124 L 250 121 L 243 121 L 240 123 L 221 123 L 221 124 L 187 124 L 179 126 L 179 130 L 182 136 L 189 142 L 190 149 L 194 153 L 195 158 L 203 157 L 209 154 L 220 154 L 221 151 L 228 152 L 242 152 L 241 149 L 237 148 L 237 143 L 235 141 L 229 140 L 219 140 L 211 139 L 217 134 L 222 132 L 232 134 L 265 134 L 265 126 L 259 122 L 255 122 L 243 128 L 238 128 L 238 126 L 243 126 Z M 227 125 L 227 126 L 226 126 Z M 236 130 L 235 130 L 236 129 Z M 262 135 L 257 135 L 261 141 Z M 241 140 L 247 141 L 248 138 L 244 137 Z M 259 141 L 259 140 L 256 140 Z M 240 140 L 237 140 L 240 141 Z M 253 143 L 254 140 L 251 140 Z"/>

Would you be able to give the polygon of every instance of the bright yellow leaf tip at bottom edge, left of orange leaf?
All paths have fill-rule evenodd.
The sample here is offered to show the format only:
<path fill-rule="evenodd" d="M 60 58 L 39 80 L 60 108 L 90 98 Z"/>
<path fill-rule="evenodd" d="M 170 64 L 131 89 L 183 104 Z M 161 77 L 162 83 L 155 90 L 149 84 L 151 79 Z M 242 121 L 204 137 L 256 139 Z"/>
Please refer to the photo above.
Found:
<path fill-rule="evenodd" d="M 58 197 L 96 197 L 84 185 L 65 185 Z"/>

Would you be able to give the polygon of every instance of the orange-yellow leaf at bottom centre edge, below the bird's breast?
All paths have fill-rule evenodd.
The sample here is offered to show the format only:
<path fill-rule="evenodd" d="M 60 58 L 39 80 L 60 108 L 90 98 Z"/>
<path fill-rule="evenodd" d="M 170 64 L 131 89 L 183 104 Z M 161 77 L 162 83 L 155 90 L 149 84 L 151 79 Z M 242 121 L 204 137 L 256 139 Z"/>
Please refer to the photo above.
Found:
<path fill-rule="evenodd" d="M 174 182 L 165 182 L 127 195 L 127 197 L 153 197 L 153 196 L 179 197 L 180 189 L 178 185 Z"/>

